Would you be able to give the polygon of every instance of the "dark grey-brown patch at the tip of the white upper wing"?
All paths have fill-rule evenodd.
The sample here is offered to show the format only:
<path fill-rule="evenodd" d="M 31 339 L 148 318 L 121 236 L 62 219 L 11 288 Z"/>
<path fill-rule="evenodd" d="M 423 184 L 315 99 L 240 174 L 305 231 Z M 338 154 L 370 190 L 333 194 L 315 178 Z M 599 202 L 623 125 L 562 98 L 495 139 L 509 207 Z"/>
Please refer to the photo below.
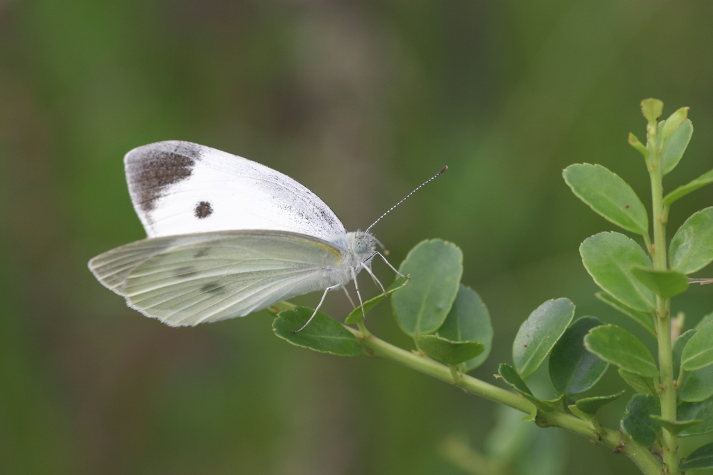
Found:
<path fill-rule="evenodd" d="M 190 177 L 200 160 L 200 145 L 159 142 L 131 150 L 125 158 L 126 178 L 134 202 L 148 213 L 175 183 Z"/>

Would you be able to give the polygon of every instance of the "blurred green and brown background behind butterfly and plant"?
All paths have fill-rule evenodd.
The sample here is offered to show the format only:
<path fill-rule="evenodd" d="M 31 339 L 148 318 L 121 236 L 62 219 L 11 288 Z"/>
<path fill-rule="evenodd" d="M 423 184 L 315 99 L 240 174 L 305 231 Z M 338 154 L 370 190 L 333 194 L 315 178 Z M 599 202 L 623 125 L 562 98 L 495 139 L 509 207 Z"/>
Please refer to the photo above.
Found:
<path fill-rule="evenodd" d="M 712 168 L 712 25 L 707 0 L 0 0 L 0 472 L 466 473 L 439 444 L 493 444 L 495 404 L 293 347 L 267 312 L 170 328 L 96 282 L 91 257 L 145 236 L 124 153 L 180 139 L 257 160 L 349 230 L 448 165 L 374 232 L 395 265 L 429 237 L 461 247 L 496 334 L 473 375 L 493 382 L 520 323 L 553 297 L 652 343 L 593 297 L 578 245 L 614 227 L 561 170 L 601 163 L 648 203 L 626 137 L 645 138 L 651 96 L 665 116 L 691 106 L 695 127 L 665 186 Z M 712 188 L 680 200 L 670 235 L 711 204 Z M 673 310 L 693 325 L 712 292 L 692 287 Z M 341 293 L 326 305 L 349 310 Z M 413 347 L 389 305 L 373 315 L 375 334 Z M 609 369 L 591 394 L 624 387 Z M 605 410 L 610 427 L 625 399 Z M 562 435 L 561 473 L 635 471 Z M 682 455 L 703 441 L 683 440 Z"/>

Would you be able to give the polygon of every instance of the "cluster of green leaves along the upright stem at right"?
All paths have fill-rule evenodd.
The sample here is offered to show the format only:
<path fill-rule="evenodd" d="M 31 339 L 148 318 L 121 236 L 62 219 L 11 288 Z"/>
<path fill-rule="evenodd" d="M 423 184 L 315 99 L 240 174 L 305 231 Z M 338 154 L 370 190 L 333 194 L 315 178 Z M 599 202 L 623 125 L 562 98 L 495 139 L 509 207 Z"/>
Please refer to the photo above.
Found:
<path fill-rule="evenodd" d="M 656 185 L 679 164 L 693 133 L 688 108 L 680 108 L 665 121 L 659 121 L 662 108 L 656 99 L 642 102 L 642 113 L 648 121 L 647 144 L 643 145 L 633 134 L 629 143 L 642 153 L 652 176 L 653 223 L 665 239 L 671 205 L 713 183 L 713 170 L 665 196 L 657 195 Z M 585 163 L 570 165 L 563 176 L 573 193 L 596 213 L 643 239 L 642 247 L 631 237 L 610 231 L 584 240 L 580 255 L 602 289 L 597 297 L 652 335 L 670 332 L 670 299 L 687 290 L 690 274 L 713 261 L 713 207 L 691 215 L 676 231 L 668 248 L 662 249 L 665 240 L 652 242 L 650 238 L 647 209 L 618 175 L 602 165 Z M 667 260 L 662 259 L 666 251 Z M 674 384 L 669 390 L 675 392 L 677 406 L 672 408 L 676 414 L 673 419 L 662 417 L 666 381 L 644 342 L 615 325 L 595 326 L 585 334 L 585 349 L 619 367 L 622 379 L 636 392 L 621 420 L 622 431 L 636 444 L 662 446 L 662 429 L 672 436 L 713 432 L 713 322 L 703 323 L 677 337 L 672 348 L 661 344 L 667 334 L 664 340 L 659 339 L 661 364 L 672 362 Z M 694 451 L 680 469 L 710 467 L 712 444 Z"/>

